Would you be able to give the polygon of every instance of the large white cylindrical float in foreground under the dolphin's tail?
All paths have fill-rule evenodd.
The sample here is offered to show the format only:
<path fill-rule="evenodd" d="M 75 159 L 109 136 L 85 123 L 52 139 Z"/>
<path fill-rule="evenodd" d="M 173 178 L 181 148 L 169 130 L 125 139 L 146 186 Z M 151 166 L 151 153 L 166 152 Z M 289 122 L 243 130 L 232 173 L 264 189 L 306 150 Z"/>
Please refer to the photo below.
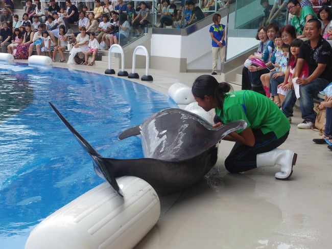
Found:
<path fill-rule="evenodd" d="M 132 248 L 156 224 L 160 202 L 145 180 L 116 179 L 124 198 L 103 183 L 41 221 L 25 249 Z"/>

